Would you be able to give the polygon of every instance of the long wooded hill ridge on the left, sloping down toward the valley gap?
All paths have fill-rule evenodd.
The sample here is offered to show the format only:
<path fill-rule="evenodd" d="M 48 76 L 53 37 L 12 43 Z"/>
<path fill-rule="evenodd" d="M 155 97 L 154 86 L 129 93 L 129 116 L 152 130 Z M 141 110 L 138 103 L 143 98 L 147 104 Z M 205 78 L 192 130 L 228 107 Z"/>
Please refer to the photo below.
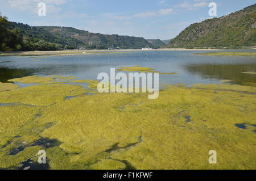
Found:
<path fill-rule="evenodd" d="M 102 35 L 71 27 L 32 27 L 9 22 L 0 13 L 0 51 L 154 48 L 143 37 Z"/>

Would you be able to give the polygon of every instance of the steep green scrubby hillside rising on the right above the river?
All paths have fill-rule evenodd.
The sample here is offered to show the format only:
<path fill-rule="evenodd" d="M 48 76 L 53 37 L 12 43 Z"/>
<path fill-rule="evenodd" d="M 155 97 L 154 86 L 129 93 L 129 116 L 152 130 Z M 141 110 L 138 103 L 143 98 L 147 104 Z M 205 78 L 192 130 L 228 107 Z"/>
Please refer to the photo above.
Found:
<path fill-rule="evenodd" d="M 256 4 L 220 18 L 191 24 L 167 47 L 251 47 L 256 43 Z"/>

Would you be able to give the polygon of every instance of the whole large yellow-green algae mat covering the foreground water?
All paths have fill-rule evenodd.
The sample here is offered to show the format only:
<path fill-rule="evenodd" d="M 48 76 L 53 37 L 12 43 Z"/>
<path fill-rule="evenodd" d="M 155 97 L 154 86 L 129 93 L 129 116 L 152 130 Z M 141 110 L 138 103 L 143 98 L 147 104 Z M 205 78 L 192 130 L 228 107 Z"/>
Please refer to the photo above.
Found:
<path fill-rule="evenodd" d="M 72 79 L 10 80 L 38 83 L 21 89 L 0 83 L 1 169 L 36 167 L 39 150 L 47 155 L 40 169 L 256 168 L 256 87 L 180 84 L 147 99 L 100 94 L 97 81 L 72 81 L 89 90 Z"/>

